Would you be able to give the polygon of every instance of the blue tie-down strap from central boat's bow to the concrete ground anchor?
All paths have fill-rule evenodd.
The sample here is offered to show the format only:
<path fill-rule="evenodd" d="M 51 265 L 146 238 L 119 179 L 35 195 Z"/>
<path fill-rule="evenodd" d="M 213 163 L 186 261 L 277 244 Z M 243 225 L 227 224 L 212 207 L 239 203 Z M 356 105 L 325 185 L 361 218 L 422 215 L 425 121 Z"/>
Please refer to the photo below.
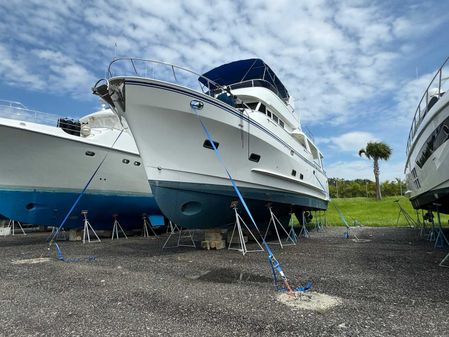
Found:
<path fill-rule="evenodd" d="M 193 111 L 192 111 L 192 112 L 193 112 Z M 203 123 L 203 121 L 201 120 L 200 115 L 199 115 L 199 113 L 198 113 L 198 110 L 195 110 L 195 115 L 198 117 L 198 120 L 199 120 L 200 123 L 201 123 L 201 127 L 203 128 L 204 133 L 206 134 L 207 139 L 209 140 L 210 144 L 211 144 L 212 147 L 214 148 L 214 152 L 215 152 L 215 154 L 217 155 L 218 159 L 220 160 L 220 164 L 223 166 L 224 170 L 226 171 L 226 173 L 227 173 L 227 175 L 228 175 L 228 177 L 229 177 L 229 180 L 231 181 L 232 186 L 234 187 L 234 190 L 235 190 L 235 192 L 237 193 L 237 196 L 239 197 L 239 199 L 240 199 L 240 201 L 241 201 L 243 207 L 244 207 L 245 210 L 246 210 L 246 213 L 247 213 L 248 216 L 250 217 L 250 219 L 251 219 L 251 221 L 252 221 L 254 227 L 257 229 L 257 232 L 259 233 L 260 237 L 262 238 L 262 244 L 264 245 L 265 249 L 267 250 L 267 253 L 268 253 L 268 261 L 269 261 L 270 266 L 271 266 L 272 271 L 273 271 L 273 277 L 274 277 L 275 285 L 277 284 L 277 278 L 276 278 L 276 273 L 275 273 L 275 270 L 276 270 L 276 271 L 279 273 L 279 275 L 281 276 L 282 281 L 284 282 L 284 285 L 285 285 L 285 287 L 286 287 L 286 290 L 287 290 L 289 293 L 293 292 L 292 288 L 290 287 L 290 285 L 289 285 L 289 283 L 288 283 L 288 279 L 287 279 L 287 277 L 285 276 L 284 271 L 282 270 L 282 267 L 281 267 L 280 263 L 278 262 L 278 260 L 277 260 L 277 259 L 275 258 L 275 256 L 273 255 L 273 252 L 271 251 L 270 246 L 267 244 L 267 242 L 265 241 L 265 238 L 263 237 L 262 233 L 260 232 L 259 227 L 257 226 L 256 221 L 254 220 L 254 218 L 253 218 L 253 216 L 252 216 L 252 214 L 251 214 L 251 211 L 249 210 L 248 206 L 246 205 L 245 199 L 243 198 L 242 194 L 240 193 L 240 190 L 239 190 L 239 188 L 237 187 L 237 184 L 235 183 L 234 179 L 232 178 L 231 173 L 229 173 L 229 170 L 228 170 L 228 168 L 226 167 L 226 165 L 225 165 L 225 163 L 224 163 L 224 161 L 223 161 L 223 158 L 222 158 L 221 155 L 220 155 L 220 152 L 218 151 L 217 147 L 215 146 L 215 144 L 214 144 L 214 142 L 213 142 L 213 139 L 212 139 L 212 137 L 211 137 L 211 135 L 210 135 L 210 133 L 209 133 L 209 131 L 208 131 L 206 125 L 205 125 L 205 124 Z M 299 288 L 296 288 L 295 290 L 296 290 L 296 291 L 306 291 L 306 290 L 310 289 L 310 287 L 311 287 L 311 286 L 309 285 L 309 286 L 305 286 L 305 287 L 299 287 Z"/>

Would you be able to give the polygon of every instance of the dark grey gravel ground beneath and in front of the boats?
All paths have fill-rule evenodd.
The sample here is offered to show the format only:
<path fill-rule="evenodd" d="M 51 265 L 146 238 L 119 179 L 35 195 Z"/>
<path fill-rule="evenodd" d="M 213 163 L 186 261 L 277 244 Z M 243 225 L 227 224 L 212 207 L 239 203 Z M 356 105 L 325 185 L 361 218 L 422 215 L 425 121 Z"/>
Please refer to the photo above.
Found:
<path fill-rule="evenodd" d="M 342 228 L 272 245 L 291 283 L 342 304 L 325 312 L 277 301 L 265 253 L 161 250 L 154 237 L 48 252 L 48 234 L 0 238 L 0 336 L 449 336 L 445 252 L 406 228 Z M 95 261 L 86 257 L 94 255 Z M 51 256 L 47 262 L 15 260 Z M 238 280 L 242 279 L 242 280 Z"/>

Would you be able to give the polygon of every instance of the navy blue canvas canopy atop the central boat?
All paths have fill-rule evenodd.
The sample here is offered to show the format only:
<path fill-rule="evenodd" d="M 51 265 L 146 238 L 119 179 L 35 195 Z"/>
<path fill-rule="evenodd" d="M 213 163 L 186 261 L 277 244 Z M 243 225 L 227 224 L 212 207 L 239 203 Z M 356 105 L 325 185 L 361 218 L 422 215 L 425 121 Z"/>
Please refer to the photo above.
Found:
<path fill-rule="evenodd" d="M 231 89 L 265 87 L 273 91 L 284 102 L 290 95 L 274 71 L 261 59 L 247 59 L 221 65 L 204 73 L 198 80 L 207 85 L 206 79 Z"/>

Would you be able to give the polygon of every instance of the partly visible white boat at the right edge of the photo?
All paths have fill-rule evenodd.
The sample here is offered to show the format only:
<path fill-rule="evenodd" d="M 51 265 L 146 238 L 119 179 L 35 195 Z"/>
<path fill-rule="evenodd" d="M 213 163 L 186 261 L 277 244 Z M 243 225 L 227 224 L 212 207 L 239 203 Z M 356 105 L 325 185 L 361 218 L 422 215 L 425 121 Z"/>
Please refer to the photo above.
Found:
<path fill-rule="evenodd" d="M 449 213 L 449 58 L 427 87 L 407 142 L 406 195 L 415 209 Z"/>

